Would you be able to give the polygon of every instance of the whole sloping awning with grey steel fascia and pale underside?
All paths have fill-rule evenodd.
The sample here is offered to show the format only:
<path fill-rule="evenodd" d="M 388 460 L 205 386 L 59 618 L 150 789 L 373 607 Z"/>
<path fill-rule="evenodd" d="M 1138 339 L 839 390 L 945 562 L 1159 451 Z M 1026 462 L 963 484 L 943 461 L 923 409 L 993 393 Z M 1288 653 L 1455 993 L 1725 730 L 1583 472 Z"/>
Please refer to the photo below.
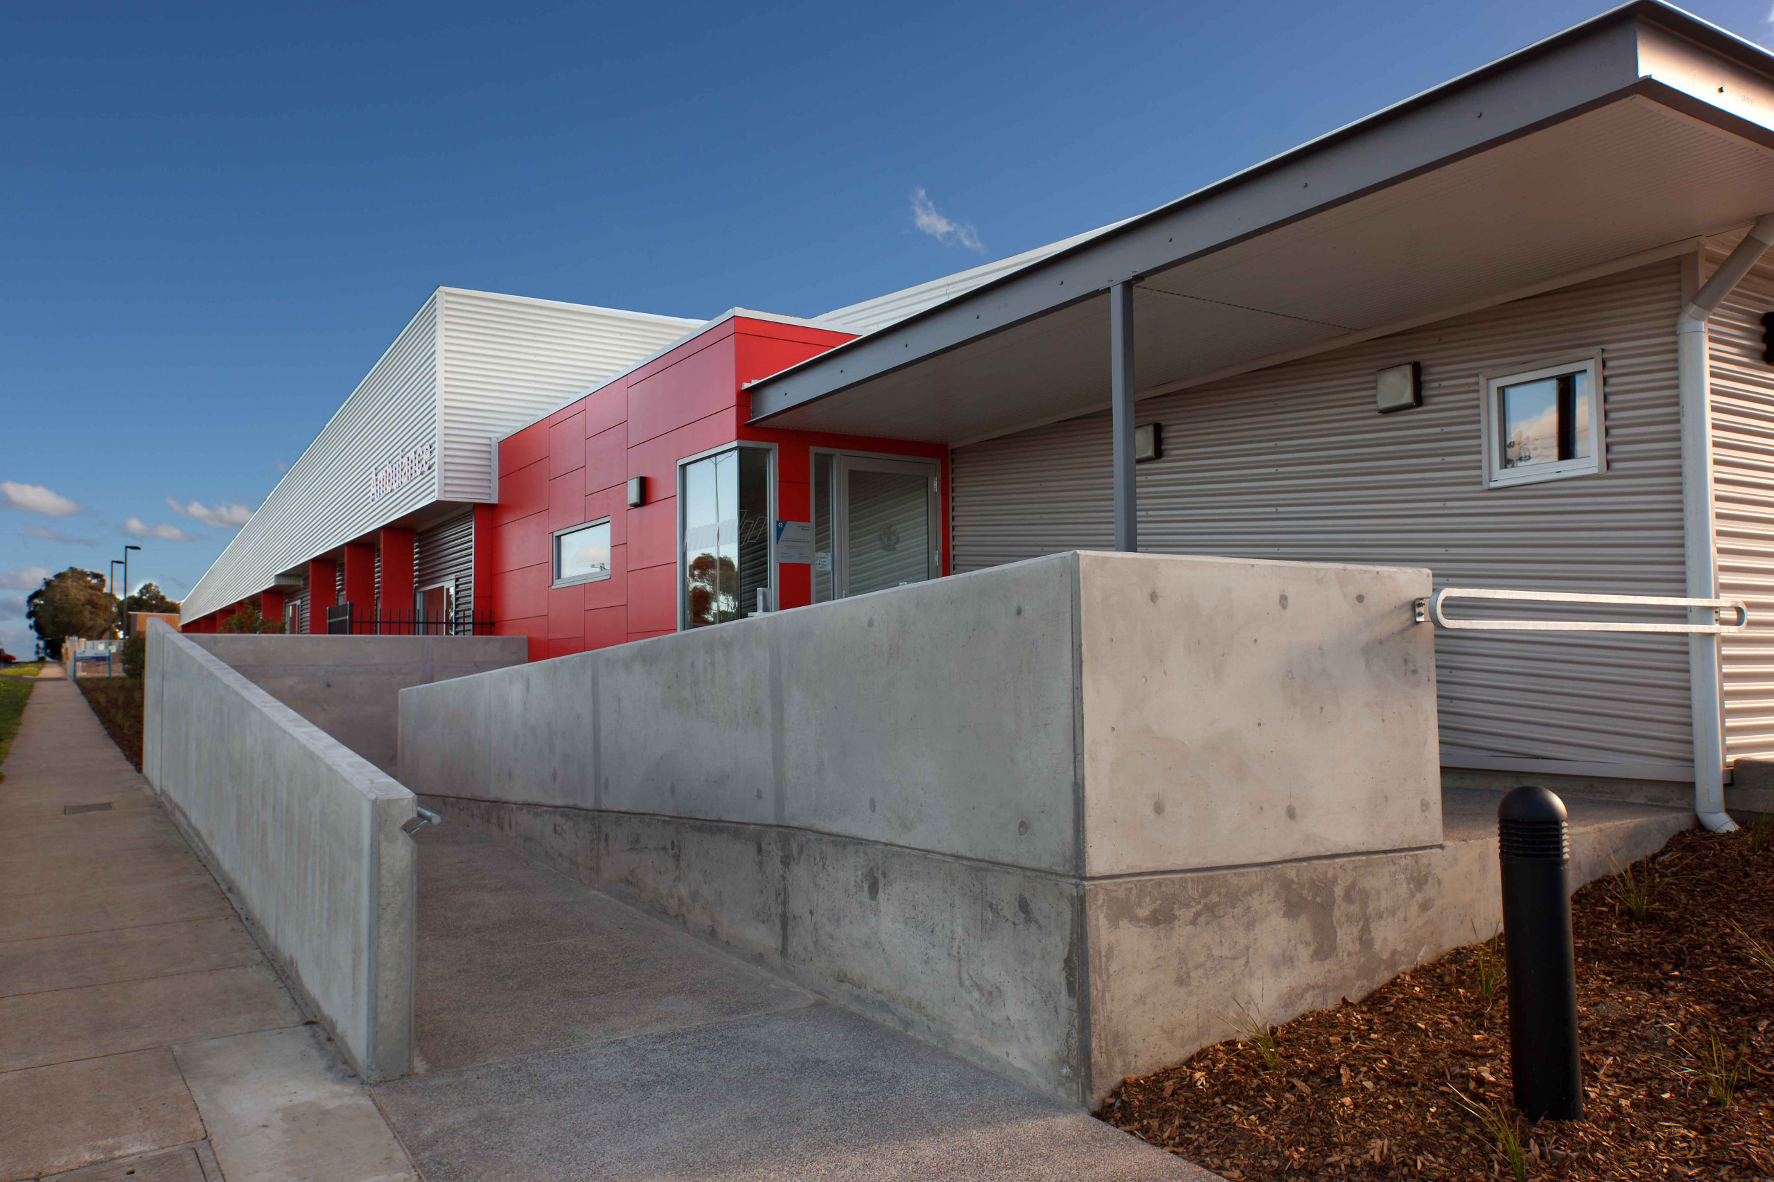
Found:
<path fill-rule="evenodd" d="M 967 444 L 1109 405 L 1119 282 L 1150 398 L 1770 208 L 1774 55 L 1636 2 L 752 383 L 752 421 Z"/>

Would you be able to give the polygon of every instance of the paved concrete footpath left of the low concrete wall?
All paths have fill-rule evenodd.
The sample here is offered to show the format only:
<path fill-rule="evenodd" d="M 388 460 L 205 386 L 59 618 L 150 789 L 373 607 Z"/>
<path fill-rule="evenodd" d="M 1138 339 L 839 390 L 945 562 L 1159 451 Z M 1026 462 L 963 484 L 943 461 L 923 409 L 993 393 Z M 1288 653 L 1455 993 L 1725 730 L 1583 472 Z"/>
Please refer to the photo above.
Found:
<path fill-rule="evenodd" d="M 147 783 L 53 674 L 0 783 L 0 1180 L 39 1177 L 417 1178 Z"/>

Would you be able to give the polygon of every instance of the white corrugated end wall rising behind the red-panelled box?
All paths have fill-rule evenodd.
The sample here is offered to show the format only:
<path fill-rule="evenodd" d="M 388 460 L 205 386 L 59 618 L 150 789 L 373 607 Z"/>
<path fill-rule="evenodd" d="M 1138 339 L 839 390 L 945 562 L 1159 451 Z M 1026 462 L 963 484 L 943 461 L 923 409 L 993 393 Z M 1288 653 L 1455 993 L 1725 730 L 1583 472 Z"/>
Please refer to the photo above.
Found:
<path fill-rule="evenodd" d="M 440 500 L 493 500 L 491 440 L 683 337 L 701 321 L 444 288 Z"/>

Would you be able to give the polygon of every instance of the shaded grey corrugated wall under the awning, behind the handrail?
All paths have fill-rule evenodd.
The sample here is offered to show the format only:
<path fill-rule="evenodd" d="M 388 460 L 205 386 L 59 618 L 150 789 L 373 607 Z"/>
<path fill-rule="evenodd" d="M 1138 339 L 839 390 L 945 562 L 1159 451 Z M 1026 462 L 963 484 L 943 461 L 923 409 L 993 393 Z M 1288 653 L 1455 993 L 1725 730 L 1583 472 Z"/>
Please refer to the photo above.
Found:
<path fill-rule="evenodd" d="M 1139 403 L 1141 548 L 1428 566 L 1437 586 L 1682 595 L 1676 263 Z M 1602 476 L 1480 486 L 1480 374 L 1605 351 Z M 1423 362 L 1425 405 L 1373 408 Z M 954 451 L 956 570 L 1112 545 L 1107 414 Z M 1682 637 L 1437 635 L 1442 763 L 1691 776 Z M 1545 763 L 1556 761 L 1556 763 Z"/>

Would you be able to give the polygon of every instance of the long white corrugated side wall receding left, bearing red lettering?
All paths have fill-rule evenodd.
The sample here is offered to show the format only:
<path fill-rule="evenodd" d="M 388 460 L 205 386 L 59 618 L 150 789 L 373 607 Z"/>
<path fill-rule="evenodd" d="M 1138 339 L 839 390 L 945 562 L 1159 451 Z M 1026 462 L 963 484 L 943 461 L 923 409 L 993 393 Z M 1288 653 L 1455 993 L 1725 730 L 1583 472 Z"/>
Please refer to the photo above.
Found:
<path fill-rule="evenodd" d="M 435 472 L 381 497 L 369 493 L 376 469 L 435 438 L 435 398 L 433 295 L 222 550 L 184 598 L 181 618 L 257 595 L 298 563 L 435 500 Z"/>

